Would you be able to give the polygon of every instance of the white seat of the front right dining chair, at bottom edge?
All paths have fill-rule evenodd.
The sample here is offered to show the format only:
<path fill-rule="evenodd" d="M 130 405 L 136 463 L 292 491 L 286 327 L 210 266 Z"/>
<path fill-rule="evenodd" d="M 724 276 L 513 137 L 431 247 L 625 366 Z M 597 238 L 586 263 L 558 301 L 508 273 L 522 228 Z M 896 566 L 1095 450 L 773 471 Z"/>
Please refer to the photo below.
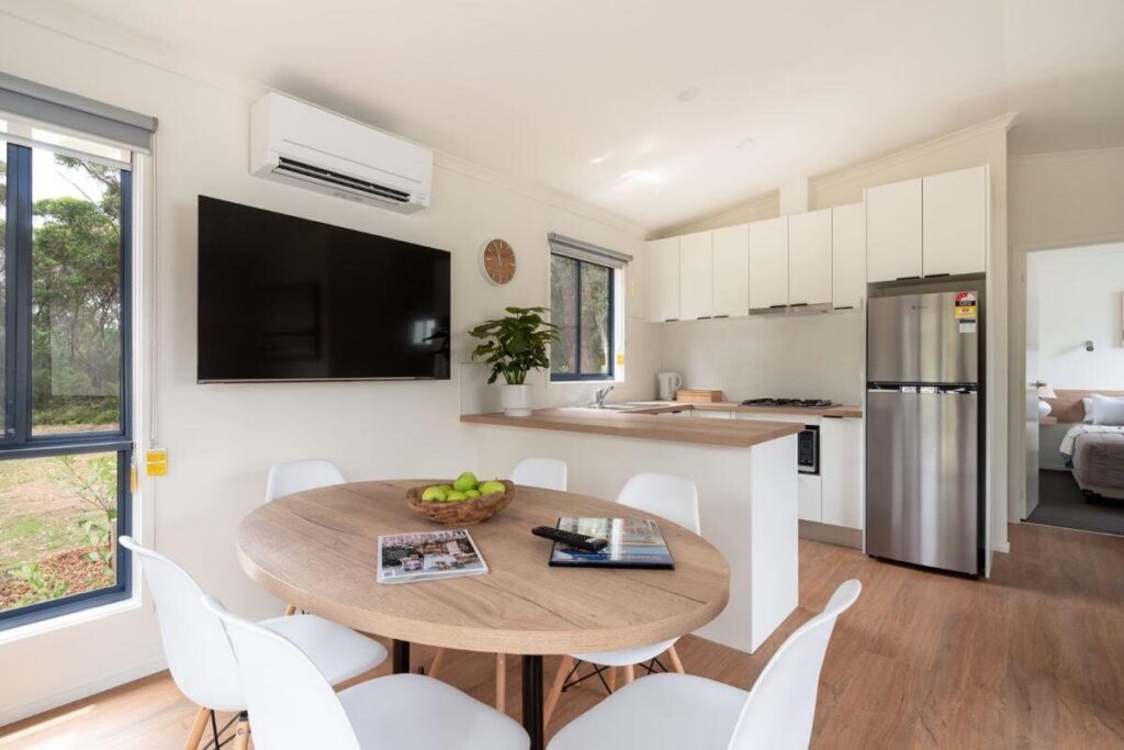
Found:
<path fill-rule="evenodd" d="M 726 750 L 746 697 L 694 675 L 650 675 L 563 726 L 549 750 Z"/>

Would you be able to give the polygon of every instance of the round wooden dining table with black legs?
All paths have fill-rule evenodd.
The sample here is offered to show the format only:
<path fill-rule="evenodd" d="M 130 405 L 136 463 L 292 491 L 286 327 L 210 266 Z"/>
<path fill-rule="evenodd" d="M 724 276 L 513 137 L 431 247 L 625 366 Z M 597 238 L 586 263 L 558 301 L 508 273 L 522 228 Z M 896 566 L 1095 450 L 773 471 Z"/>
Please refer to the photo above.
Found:
<path fill-rule="evenodd" d="M 726 606 L 729 569 L 701 536 L 660 530 L 673 570 L 547 566 L 551 542 L 531 534 L 559 517 L 654 517 L 573 493 L 517 487 L 511 504 L 469 526 L 488 573 L 413 584 L 377 581 L 378 537 L 447 530 L 417 516 L 406 490 L 445 480 L 354 482 L 297 493 L 247 515 L 238 559 L 262 588 L 301 609 L 392 639 L 393 671 L 409 644 L 520 654 L 523 723 L 543 747 L 543 654 L 608 651 L 690 633 Z"/>

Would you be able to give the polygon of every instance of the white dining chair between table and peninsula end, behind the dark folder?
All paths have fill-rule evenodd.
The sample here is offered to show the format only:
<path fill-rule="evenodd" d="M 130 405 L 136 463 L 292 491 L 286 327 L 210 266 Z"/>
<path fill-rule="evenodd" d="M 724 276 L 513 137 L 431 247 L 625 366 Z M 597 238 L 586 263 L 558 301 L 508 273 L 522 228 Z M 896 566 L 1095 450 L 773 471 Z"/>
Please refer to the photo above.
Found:
<path fill-rule="evenodd" d="M 617 495 L 617 503 L 667 518 L 696 534 L 701 533 L 699 530 L 698 489 L 690 479 L 671 475 L 640 473 L 625 484 L 620 494 Z M 668 652 L 672 669 L 683 674 L 683 663 L 676 651 L 676 641 L 678 640 L 678 638 L 673 638 L 634 649 L 574 653 L 562 657 L 558 672 L 554 675 L 554 681 L 546 695 L 546 703 L 543 706 L 543 722 L 550 722 L 551 714 L 554 713 L 562 690 L 566 687 L 566 680 L 575 671 L 577 663 L 584 661 L 593 665 L 598 676 L 607 668 L 606 687 L 611 693 L 616 687 L 617 668 L 622 669 L 624 683 L 627 685 L 635 679 L 634 665 L 651 662 L 664 651 Z"/>

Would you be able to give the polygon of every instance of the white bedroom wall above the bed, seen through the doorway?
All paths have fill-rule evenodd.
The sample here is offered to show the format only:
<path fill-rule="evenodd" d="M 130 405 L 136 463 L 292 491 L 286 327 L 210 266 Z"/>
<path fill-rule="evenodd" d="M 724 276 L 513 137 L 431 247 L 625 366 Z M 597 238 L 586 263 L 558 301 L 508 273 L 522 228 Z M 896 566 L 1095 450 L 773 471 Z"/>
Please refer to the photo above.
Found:
<path fill-rule="evenodd" d="M 1031 253 L 1027 262 L 1039 305 L 1039 379 L 1053 388 L 1124 390 L 1124 243 Z"/>

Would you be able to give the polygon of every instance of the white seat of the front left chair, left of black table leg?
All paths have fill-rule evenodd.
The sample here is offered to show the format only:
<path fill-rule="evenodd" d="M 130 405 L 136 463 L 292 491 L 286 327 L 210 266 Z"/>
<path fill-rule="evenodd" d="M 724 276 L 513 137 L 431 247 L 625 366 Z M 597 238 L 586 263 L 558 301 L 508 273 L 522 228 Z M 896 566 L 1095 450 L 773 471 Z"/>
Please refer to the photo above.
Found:
<path fill-rule="evenodd" d="M 527 750 L 516 721 L 441 680 L 390 675 L 339 693 L 363 750 Z"/>

